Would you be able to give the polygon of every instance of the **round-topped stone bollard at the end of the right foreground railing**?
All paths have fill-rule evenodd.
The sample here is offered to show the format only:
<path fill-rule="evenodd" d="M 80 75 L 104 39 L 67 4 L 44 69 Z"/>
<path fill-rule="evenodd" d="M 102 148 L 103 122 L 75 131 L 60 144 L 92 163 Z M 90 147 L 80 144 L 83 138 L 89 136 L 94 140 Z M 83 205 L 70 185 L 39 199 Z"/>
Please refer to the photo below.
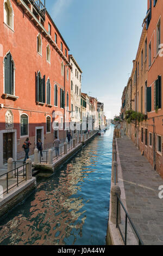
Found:
<path fill-rule="evenodd" d="M 120 187 L 114 185 L 111 187 L 111 217 L 110 221 L 113 224 L 117 222 L 117 195 L 121 198 L 121 190 Z M 118 202 L 118 224 L 121 223 L 121 207 L 120 202 Z"/>

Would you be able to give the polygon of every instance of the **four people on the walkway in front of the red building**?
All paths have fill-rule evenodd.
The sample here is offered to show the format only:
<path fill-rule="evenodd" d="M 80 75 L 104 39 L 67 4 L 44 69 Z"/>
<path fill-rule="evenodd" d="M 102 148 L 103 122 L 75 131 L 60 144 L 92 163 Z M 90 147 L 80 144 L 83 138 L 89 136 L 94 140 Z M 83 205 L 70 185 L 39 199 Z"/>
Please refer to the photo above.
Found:
<path fill-rule="evenodd" d="M 71 139 L 72 139 L 71 133 L 68 132 L 68 134 L 67 134 L 68 143 L 70 143 Z M 30 145 L 32 145 L 32 143 L 30 143 L 29 138 L 27 138 L 26 141 L 23 144 L 23 147 L 22 147 L 24 149 L 24 152 L 25 152 L 25 157 L 24 157 L 24 161 L 23 161 L 24 163 L 26 162 L 27 159 L 29 159 L 29 147 L 30 147 Z M 58 139 L 57 136 L 55 136 L 55 138 L 54 138 L 53 145 L 54 145 L 54 149 L 56 151 L 56 156 L 57 157 L 60 156 L 59 155 L 60 140 Z M 42 156 L 43 144 L 41 142 L 41 139 L 37 140 L 36 148 L 39 150 L 40 155 L 43 159 L 43 156 Z"/>

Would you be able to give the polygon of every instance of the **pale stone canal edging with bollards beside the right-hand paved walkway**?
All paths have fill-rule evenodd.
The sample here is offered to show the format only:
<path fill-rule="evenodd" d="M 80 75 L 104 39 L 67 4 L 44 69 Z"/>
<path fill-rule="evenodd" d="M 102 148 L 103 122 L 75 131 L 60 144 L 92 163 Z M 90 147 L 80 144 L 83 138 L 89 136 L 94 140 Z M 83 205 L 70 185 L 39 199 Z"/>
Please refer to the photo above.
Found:
<path fill-rule="evenodd" d="M 114 132 L 113 144 L 112 144 L 112 172 L 111 172 L 111 188 L 110 188 L 110 205 L 109 205 L 109 220 L 108 220 L 108 229 L 106 234 L 106 245 L 124 245 L 122 236 L 119 229 L 116 227 L 116 214 L 117 214 L 117 196 L 115 200 L 115 191 L 120 191 L 120 198 L 127 209 L 126 204 L 126 193 L 124 190 L 123 174 L 121 161 L 118 151 L 117 138 L 121 137 L 121 132 L 117 134 L 117 131 Z M 116 163 L 116 164 L 115 164 Z M 121 230 L 125 230 L 125 218 L 126 214 L 122 207 L 119 205 L 120 216 L 118 216 L 118 224 L 120 225 Z M 137 240 L 133 229 L 131 229 L 128 224 L 128 234 L 127 234 L 127 244 L 128 245 L 137 245 Z"/>

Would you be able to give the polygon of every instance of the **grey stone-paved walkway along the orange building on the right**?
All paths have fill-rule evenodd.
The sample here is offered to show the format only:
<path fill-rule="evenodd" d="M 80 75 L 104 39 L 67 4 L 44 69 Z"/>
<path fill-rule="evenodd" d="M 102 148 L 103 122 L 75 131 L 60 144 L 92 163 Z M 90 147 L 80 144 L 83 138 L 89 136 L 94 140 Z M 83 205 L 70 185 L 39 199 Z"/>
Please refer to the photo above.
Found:
<path fill-rule="evenodd" d="M 163 245 L 163 180 L 127 136 L 117 145 L 128 214 L 145 245 Z"/>

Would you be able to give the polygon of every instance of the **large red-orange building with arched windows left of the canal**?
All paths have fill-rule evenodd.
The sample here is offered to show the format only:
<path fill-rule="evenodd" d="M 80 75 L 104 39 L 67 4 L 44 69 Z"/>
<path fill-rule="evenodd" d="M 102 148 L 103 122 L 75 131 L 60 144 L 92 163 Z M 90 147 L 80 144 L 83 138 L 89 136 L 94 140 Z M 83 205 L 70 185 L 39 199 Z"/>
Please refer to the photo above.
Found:
<path fill-rule="evenodd" d="M 24 156 L 27 137 L 32 154 L 38 138 L 49 148 L 69 129 L 69 48 L 40 4 L 0 2 L 0 166 Z"/>

